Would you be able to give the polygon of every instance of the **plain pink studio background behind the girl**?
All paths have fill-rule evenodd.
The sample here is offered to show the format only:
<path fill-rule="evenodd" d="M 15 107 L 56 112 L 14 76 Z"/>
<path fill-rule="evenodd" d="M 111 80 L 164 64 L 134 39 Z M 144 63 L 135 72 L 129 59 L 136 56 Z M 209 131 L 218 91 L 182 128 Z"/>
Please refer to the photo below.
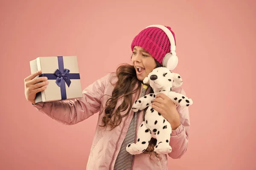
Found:
<path fill-rule="evenodd" d="M 255 170 L 253 0 L 0 2 L 0 169 L 84 170 L 97 114 L 64 126 L 24 95 L 29 61 L 77 55 L 83 89 L 120 63 L 151 24 L 172 27 L 175 72 L 193 99 L 186 154 L 170 170 Z M 253 159 L 254 158 L 254 159 Z"/>

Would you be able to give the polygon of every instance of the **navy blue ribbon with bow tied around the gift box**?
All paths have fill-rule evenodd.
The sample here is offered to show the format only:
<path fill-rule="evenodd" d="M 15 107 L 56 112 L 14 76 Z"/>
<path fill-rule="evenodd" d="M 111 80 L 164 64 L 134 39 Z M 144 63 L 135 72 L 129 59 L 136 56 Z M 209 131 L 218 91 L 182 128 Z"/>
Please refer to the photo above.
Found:
<path fill-rule="evenodd" d="M 56 80 L 55 83 L 61 88 L 61 100 L 67 99 L 66 85 L 70 87 L 70 79 L 80 79 L 79 73 L 70 73 L 69 69 L 64 69 L 63 56 L 58 56 L 58 69 L 53 74 L 44 73 L 39 77 L 47 77 L 48 80 Z"/>

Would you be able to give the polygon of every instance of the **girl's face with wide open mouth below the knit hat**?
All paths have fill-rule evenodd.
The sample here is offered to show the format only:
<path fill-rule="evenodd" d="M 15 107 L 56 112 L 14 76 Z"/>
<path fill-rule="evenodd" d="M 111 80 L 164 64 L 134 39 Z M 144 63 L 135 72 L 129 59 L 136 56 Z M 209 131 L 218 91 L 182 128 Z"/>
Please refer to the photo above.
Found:
<path fill-rule="evenodd" d="M 131 61 L 136 69 L 137 78 L 143 81 L 144 78 L 156 67 L 152 55 L 140 46 L 134 46 Z M 140 67 L 139 69 L 137 67 Z"/>

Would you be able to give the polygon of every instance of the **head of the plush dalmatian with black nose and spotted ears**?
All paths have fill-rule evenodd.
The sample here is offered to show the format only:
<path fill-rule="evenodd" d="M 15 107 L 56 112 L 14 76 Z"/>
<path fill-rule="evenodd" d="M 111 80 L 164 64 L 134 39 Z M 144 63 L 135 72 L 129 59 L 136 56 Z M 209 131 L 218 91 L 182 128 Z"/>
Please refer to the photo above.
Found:
<path fill-rule="evenodd" d="M 181 86 L 183 81 L 179 74 L 170 72 L 166 67 L 157 67 L 145 77 L 143 83 L 149 84 L 154 92 L 158 92 L 159 90 L 170 91 L 173 86 Z"/>

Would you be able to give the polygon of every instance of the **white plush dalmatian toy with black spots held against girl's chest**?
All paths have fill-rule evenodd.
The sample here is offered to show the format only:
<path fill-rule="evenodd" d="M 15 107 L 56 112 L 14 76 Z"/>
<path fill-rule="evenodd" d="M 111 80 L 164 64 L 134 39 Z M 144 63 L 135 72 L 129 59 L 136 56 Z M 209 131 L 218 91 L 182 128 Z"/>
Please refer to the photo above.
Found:
<path fill-rule="evenodd" d="M 172 152 L 169 140 L 172 133 L 171 124 L 156 110 L 151 107 L 151 102 L 159 93 L 169 96 L 175 104 L 188 107 L 193 104 L 192 99 L 176 92 L 172 92 L 172 87 L 179 87 L 183 81 L 179 74 L 170 72 L 166 67 L 157 67 L 143 80 L 149 84 L 154 93 L 139 98 L 132 106 L 132 110 L 137 112 L 148 107 L 145 113 L 145 121 L 140 124 L 137 133 L 137 142 L 128 144 L 126 150 L 132 155 L 143 153 L 148 147 L 151 138 L 157 139 L 154 151 L 159 154 Z"/>

